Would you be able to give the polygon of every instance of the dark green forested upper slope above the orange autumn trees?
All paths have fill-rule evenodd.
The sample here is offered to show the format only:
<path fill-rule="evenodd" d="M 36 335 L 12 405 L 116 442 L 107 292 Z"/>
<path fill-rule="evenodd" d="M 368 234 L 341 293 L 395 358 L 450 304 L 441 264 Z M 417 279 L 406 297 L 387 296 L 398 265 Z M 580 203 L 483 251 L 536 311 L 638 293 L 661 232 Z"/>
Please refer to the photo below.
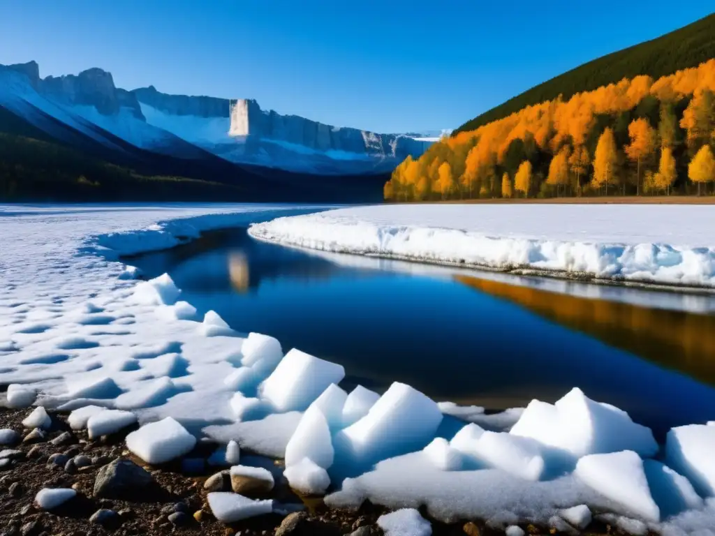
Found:
<path fill-rule="evenodd" d="M 679 69 L 698 66 L 711 58 L 715 58 L 715 14 L 652 41 L 594 59 L 534 86 L 467 121 L 454 134 L 475 130 L 526 106 L 550 101 L 559 95 L 567 100 L 581 91 L 592 91 L 641 74 L 658 79 Z"/>

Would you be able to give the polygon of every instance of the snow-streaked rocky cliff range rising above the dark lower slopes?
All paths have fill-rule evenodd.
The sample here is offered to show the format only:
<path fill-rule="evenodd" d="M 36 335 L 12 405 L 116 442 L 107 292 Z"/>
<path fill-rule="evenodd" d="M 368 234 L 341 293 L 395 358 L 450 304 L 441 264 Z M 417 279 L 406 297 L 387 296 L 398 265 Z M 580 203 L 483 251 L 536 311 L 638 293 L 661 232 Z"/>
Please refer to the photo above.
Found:
<path fill-rule="evenodd" d="M 154 86 L 126 91 L 97 68 L 41 79 L 34 61 L 0 66 L 0 106 L 48 134 L 56 126 L 49 116 L 112 149 L 122 150 L 103 132 L 181 159 L 209 152 L 235 164 L 317 174 L 387 172 L 434 141 L 424 134 L 376 134 L 284 116 L 249 99 L 169 95 Z"/>

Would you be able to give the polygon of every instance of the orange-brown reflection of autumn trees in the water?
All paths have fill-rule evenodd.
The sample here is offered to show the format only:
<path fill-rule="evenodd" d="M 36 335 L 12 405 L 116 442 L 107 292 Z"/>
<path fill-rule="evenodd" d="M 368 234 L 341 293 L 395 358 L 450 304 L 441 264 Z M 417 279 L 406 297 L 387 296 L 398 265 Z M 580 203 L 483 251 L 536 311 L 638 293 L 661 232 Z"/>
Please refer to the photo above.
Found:
<path fill-rule="evenodd" d="M 587 299 L 463 275 L 455 276 L 455 280 L 606 344 L 715 384 L 715 316 Z"/>

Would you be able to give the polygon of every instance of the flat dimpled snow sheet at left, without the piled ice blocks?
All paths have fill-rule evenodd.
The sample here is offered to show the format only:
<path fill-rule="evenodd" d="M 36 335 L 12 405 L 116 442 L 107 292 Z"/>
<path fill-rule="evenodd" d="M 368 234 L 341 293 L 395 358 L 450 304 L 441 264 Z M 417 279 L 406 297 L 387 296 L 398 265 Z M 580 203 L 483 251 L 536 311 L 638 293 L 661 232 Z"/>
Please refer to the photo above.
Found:
<path fill-rule="evenodd" d="M 234 370 L 227 357 L 243 339 L 205 337 L 197 322 L 160 314 L 180 289 L 170 278 L 137 282 L 117 259 L 292 209 L 301 208 L 0 205 L 0 382 L 18 384 L 13 405 L 39 392 L 47 407 L 132 410 L 140 423 L 171 416 L 192 432 L 232 422 L 233 391 L 217 378 Z"/>

